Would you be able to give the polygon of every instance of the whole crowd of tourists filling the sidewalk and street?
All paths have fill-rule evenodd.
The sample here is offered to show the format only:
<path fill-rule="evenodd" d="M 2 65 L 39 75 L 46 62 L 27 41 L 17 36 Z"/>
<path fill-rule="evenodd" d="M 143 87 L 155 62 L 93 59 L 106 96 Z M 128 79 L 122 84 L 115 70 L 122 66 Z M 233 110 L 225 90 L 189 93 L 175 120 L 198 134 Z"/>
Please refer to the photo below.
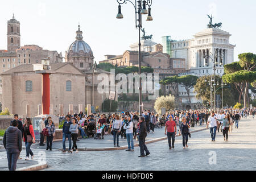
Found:
<path fill-rule="evenodd" d="M 123 111 L 114 114 L 92 114 L 86 115 L 67 114 L 58 115 L 59 120 L 63 121 L 63 151 L 66 152 L 65 141 L 68 139 L 68 152 L 78 152 L 76 142 L 79 141 L 80 131 L 82 138 L 88 138 L 90 135 L 96 138 L 104 139 L 104 135 L 111 133 L 113 135 L 114 147 L 119 146 L 119 136 L 126 139 L 128 148 L 126 151 L 134 151 L 134 139 L 139 141 L 140 155 L 144 157 L 150 154 L 145 144 L 147 134 L 155 132 L 155 127 L 165 127 L 164 134 L 168 138 L 168 147 L 170 150 L 175 147 L 175 137 L 182 135 L 183 149 L 188 148 L 188 137 L 191 137 L 189 129 L 195 126 L 205 125 L 210 127 L 211 141 L 215 142 L 216 132 L 222 132 L 224 140 L 227 142 L 229 133 L 233 131 L 233 125 L 236 129 L 239 127 L 241 118 L 247 118 L 252 115 L 254 118 L 256 109 L 224 109 L 220 111 L 203 110 L 171 110 L 163 115 L 155 114 L 150 110 L 144 110 L 141 114 L 137 111 Z M 30 118 L 24 119 L 24 124 L 14 114 L 14 119 L 10 123 L 3 137 L 3 145 L 6 148 L 8 165 L 10 170 L 16 169 L 16 162 L 20 158 L 22 151 L 22 139 L 26 146 L 25 160 L 34 158 L 31 150 L 32 143 L 35 143 L 35 134 Z M 92 127 L 91 127 L 92 126 Z M 94 131 L 92 131 L 94 129 Z M 55 124 L 51 117 L 44 115 L 39 121 L 40 146 L 45 146 L 46 150 L 52 150 L 52 142 L 55 137 Z M 71 141 L 72 140 L 72 141 Z M 73 144 L 72 144 L 73 143 Z"/>

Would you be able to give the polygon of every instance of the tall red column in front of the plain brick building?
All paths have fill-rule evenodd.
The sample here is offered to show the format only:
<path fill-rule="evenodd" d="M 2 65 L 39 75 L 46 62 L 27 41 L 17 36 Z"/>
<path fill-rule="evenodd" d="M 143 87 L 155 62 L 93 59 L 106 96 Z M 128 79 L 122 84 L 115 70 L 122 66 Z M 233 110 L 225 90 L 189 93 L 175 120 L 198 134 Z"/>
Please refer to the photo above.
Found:
<path fill-rule="evenodd" d="M 43 105 L 43 114 L 49 114 L 49 107 L 50 107 L 49 73 L 42 74 L 42 105 Z"/>

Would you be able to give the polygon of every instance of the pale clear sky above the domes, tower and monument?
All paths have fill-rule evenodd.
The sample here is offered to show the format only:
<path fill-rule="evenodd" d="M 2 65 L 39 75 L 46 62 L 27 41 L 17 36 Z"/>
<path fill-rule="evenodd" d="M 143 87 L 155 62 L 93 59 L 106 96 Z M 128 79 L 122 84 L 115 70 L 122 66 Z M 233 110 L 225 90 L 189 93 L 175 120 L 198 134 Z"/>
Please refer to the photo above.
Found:
<path fill-rule="evenodd" d="M 135 2 L 135 0 L 131 0 Z M 123 19 L 116 19 L 116 0 L 9 0 L 1 2 L 0 49 L 7 49 L 7 20 L 15 15 L 20 22 L 21 46 L 36 44 L 44 49 L 62 52 L 75 41 L 80 23 L 84 41 L 92 48 L 94 60 L 104 55 L 121 55 L 138 42 L 135 28 L 135 10 L 131 3 L 122 5 Z M 162 44 L 162 36 L 171 39 L 191 39 L 207 28 L 213 15 L 213 24 L 222 22 L 221 30 L 232 36 L 234 61 L 243 52 L 256 53 L 255 0 L 152 0 L 153 21 L 142 16 L 146 35 Z"/>

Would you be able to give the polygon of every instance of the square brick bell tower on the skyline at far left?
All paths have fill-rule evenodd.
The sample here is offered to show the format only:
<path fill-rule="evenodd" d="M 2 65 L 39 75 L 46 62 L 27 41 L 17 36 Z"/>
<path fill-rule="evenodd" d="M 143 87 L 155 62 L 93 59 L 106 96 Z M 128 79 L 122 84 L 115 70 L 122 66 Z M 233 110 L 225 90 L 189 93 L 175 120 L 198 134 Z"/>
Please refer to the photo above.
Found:
<path fill-rule="evenodd" d="M 7 49 L 15 52 L 20 48 L 20 23 L 14 18 L 7 22 Z"/>

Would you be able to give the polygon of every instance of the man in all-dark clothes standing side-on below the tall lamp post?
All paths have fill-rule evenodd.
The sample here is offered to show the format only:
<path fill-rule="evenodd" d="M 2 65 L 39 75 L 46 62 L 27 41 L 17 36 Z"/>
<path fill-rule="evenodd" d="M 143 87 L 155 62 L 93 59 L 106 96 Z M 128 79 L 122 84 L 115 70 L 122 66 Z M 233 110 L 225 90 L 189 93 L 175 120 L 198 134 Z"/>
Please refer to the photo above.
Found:
<path fill-rule="evenodd" d="M 150 152 L 147 150 L 147 146 L 145 144 L 147 131 L 146 131 L 146 122 L 144 121 L 144 117 L 139 117 L 138 130 L 139 130 L 139 147 L 141 148 L 141 155 L 139 155 L 139 158 L 140 158 L 140 157 L 150 155 Z M 146 152 L 146 155 L 144 154 L 144 151 Z"/>

